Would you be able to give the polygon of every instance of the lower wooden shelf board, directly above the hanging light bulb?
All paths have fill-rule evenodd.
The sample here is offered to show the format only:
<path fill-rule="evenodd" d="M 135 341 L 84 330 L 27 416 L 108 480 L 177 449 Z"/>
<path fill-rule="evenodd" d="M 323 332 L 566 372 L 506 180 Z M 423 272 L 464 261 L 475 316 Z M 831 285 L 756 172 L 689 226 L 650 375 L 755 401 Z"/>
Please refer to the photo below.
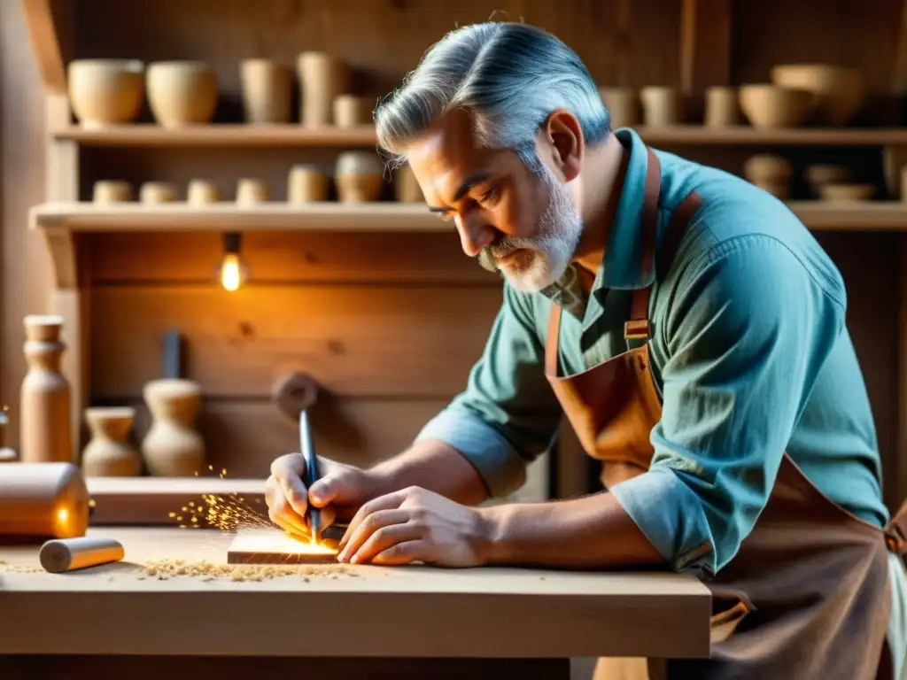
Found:
<path fill-rule="evenodd" d="M 907 203 L 864 201 L 788 203 L 814 231 L 907 229 Z M 215 203 L 194 207 L 174 202 L 156 205 L 92 202 L 44 203 L 32 209 L 33 228 L 45 231 L 438 231 L 453 224 L 430 213 L 421 203 L 311 203 L 272 202 L 239 207 Z"/>

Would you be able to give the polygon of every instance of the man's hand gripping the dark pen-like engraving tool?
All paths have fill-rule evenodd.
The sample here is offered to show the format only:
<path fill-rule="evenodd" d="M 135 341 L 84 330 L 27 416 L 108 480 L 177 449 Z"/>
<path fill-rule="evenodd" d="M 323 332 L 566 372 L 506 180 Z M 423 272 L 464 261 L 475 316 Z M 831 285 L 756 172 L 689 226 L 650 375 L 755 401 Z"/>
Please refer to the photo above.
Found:
<path fill-rule="evenodd" d="M 307 536 L 305 520 L 308 503 L 321 509 L 321 528 L 335 520 L 349 520 L 379 488 L 374 475 L 352 465 L 318 459 L 321 477 L 306 489 L 302 481 L 306 459 L 301 453 L 288 453 L 271 463 L 271 476 L 265 483 L 268 517 L 282 529 Z"/>

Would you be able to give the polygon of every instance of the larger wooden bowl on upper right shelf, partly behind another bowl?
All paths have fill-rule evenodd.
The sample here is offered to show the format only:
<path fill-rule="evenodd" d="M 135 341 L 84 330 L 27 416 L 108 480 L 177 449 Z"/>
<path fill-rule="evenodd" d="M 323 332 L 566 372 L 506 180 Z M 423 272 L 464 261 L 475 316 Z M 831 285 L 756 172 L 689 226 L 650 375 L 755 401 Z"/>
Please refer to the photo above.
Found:
<path fill-rule="evenodd" d="M 858 69 L 824 63 L 775 66 L 772 82 L 806 90 L 814 95 L 814 119 L 826 125 L 845 125 L 860 110 L 866 96 L 863 73 Z"/>

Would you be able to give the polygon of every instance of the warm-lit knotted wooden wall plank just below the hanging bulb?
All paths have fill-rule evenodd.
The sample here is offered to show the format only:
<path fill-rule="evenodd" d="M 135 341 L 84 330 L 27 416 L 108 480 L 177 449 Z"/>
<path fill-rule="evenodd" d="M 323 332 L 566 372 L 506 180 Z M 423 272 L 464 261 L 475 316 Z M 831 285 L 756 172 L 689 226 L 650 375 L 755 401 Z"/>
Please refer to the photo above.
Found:
<path fill-rule="evenodd" d="M 344 396 L 448 397 L 463 389 L 500 287 L 104 287 L 93 292 L 93 394 L 141 393 L 179 329 L 185 377 L 210 397 L 265 397 L 303 371 Z"/>

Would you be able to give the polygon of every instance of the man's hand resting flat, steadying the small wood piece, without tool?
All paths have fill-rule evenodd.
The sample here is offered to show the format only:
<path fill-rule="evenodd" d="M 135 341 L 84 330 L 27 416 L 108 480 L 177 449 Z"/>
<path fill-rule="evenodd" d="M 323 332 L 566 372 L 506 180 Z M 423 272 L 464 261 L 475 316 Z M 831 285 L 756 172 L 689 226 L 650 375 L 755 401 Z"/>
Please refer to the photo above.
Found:
<path fill-rule="evenodd" d="M 479 567 L 486 562 L 491 527 L 482 510 L 434 491 L 409 487 L 363 505 L 340 541 L 337 559 L 379 565 L 424 562 Z"/>

